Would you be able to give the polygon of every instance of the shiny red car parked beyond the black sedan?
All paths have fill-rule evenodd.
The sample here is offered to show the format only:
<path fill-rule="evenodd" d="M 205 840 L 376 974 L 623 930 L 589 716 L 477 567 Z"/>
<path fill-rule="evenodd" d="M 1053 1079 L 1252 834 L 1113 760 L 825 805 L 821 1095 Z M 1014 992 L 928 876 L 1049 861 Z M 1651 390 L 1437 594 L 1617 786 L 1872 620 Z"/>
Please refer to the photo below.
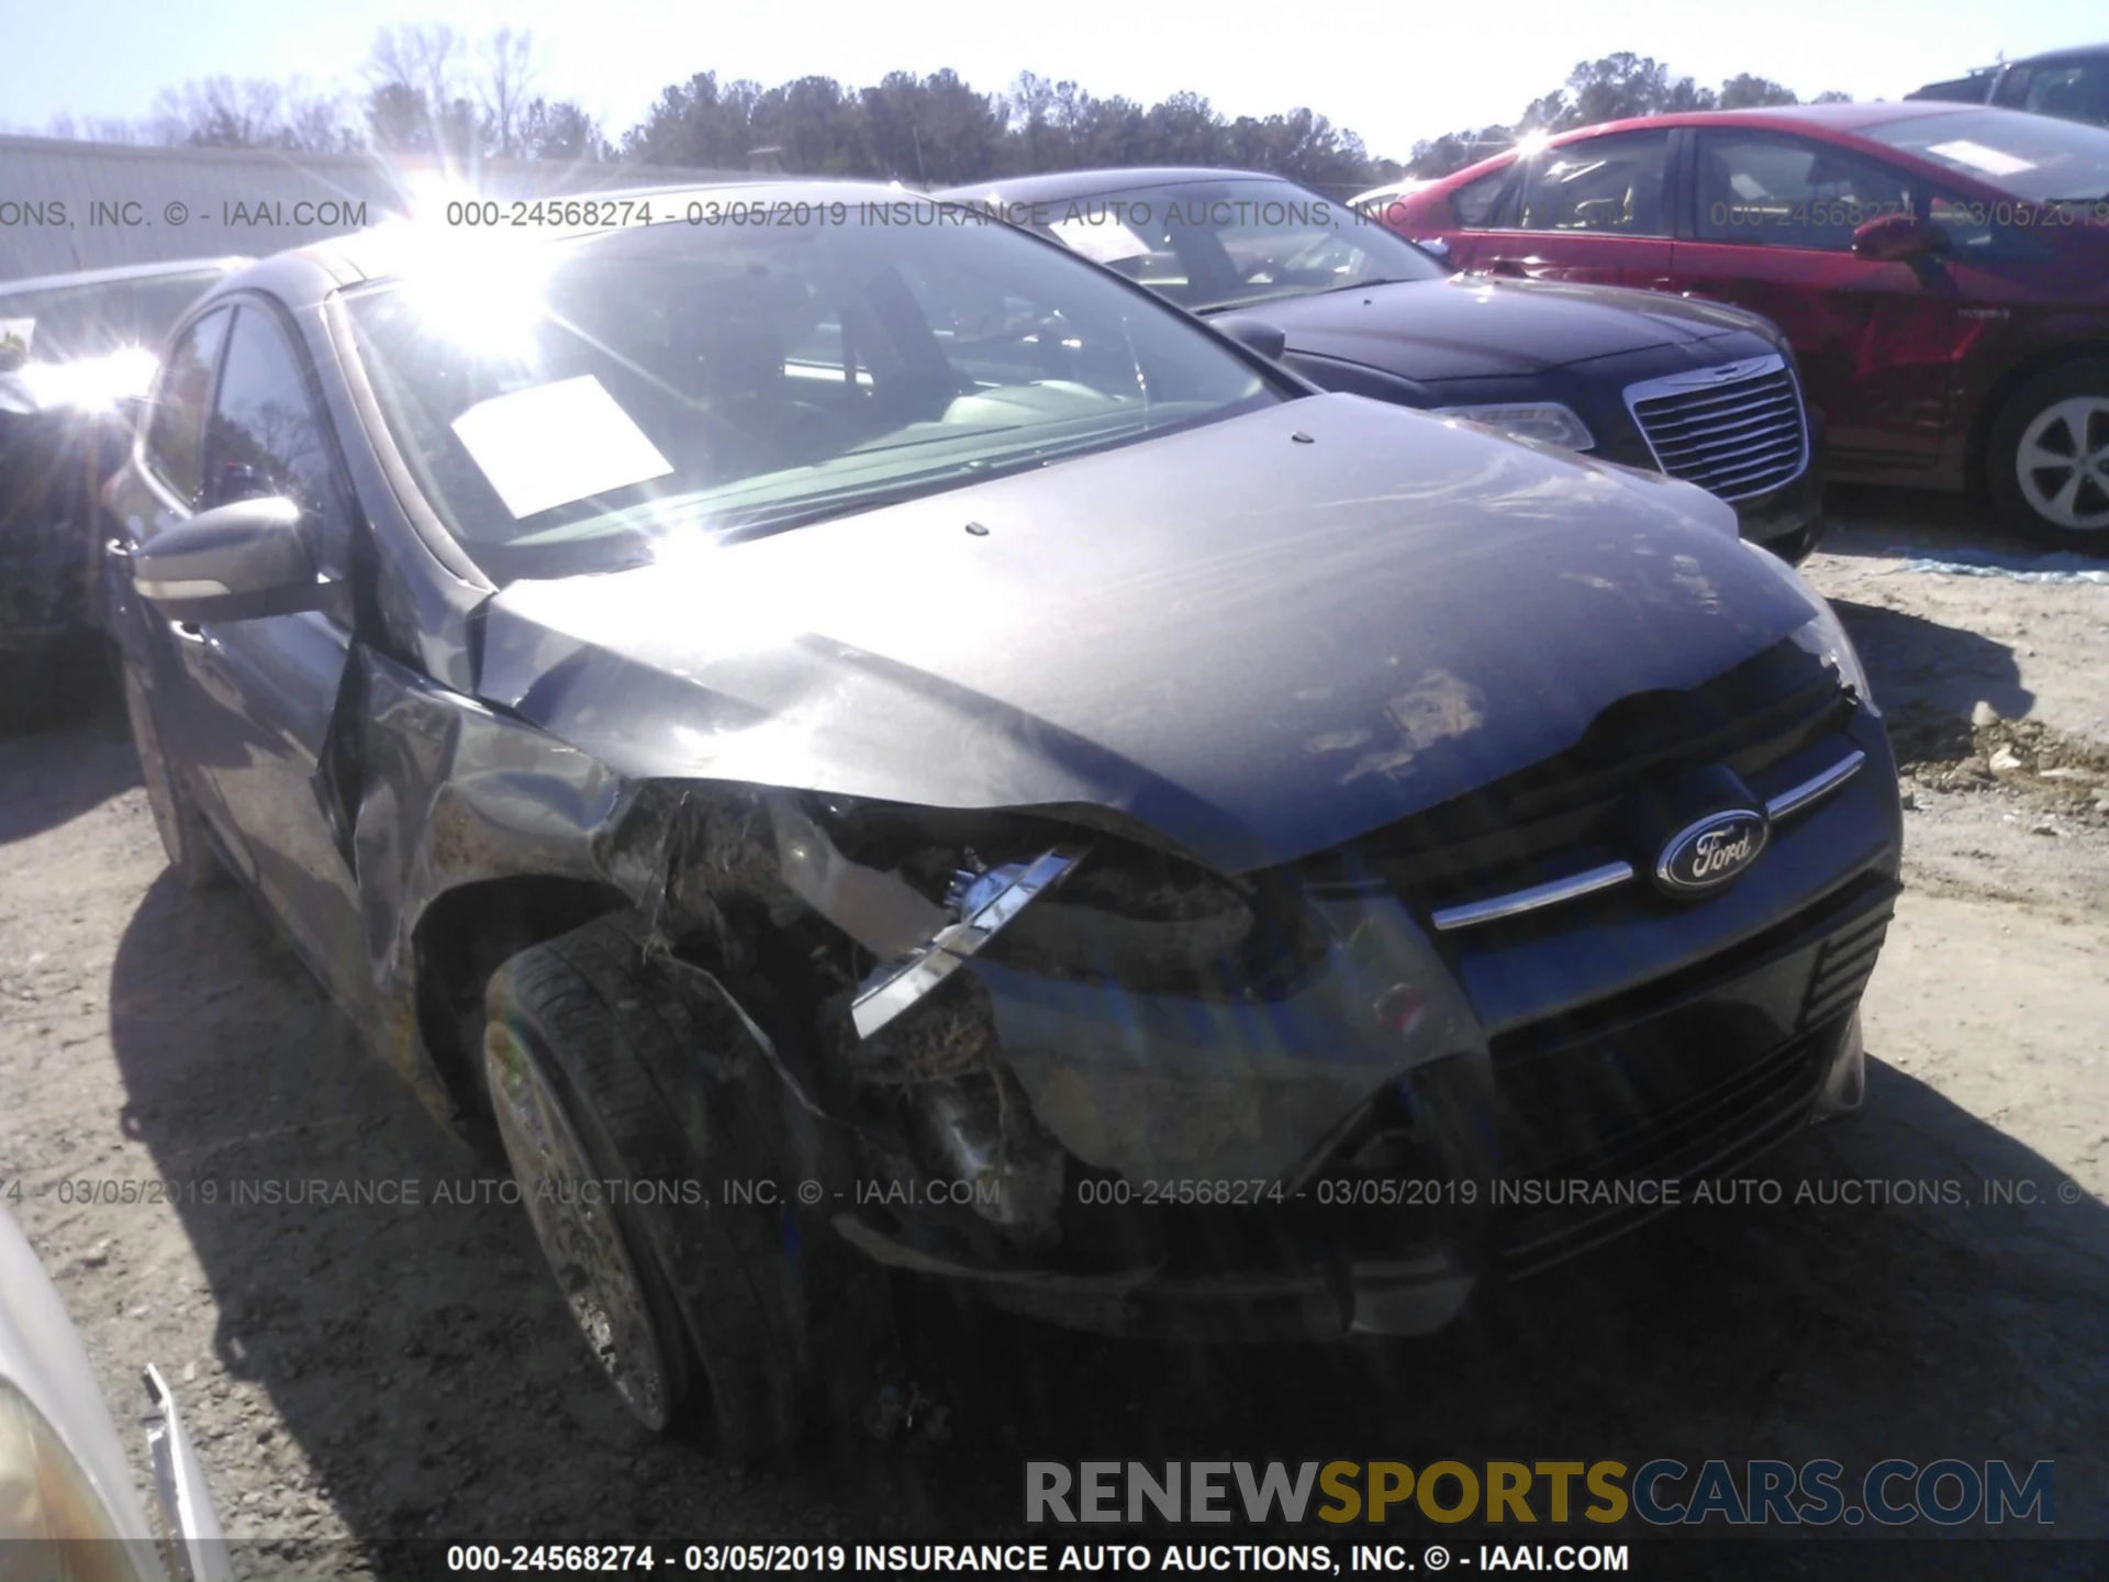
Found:
<path fill-rule="evenodd" d="M 1793 342 L 1829 477 L 1982 485 L 2109 553 L 2109 129 L 1923 101 L 1649 116 L 1379 217 L 1466 270 L 1753 308 Z"/>

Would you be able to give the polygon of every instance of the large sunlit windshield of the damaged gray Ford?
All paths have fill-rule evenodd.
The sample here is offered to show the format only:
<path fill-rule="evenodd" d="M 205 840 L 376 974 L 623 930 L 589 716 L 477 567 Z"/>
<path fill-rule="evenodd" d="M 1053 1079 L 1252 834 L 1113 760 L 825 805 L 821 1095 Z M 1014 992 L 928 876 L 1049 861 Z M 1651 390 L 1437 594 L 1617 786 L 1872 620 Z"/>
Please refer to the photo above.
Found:
<path fill-rule="evenodd" d="M 810 224 L 494 240 L 350 300 L 396 445 L 485 570 L 628 563 L 1282 399 L 1010 226 L 789 209 Z"/>

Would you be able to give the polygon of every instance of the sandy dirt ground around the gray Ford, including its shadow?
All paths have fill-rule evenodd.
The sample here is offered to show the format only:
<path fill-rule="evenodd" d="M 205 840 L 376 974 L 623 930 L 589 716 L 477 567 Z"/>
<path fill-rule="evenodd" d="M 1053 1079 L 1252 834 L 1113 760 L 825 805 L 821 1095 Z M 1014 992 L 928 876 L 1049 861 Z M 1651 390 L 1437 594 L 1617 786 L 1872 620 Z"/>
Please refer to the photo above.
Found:
<path fill-rule="evenodd" d="M 943 1411 L 913 1430 L 844 1426 L 755 1472 L 652 1441 L 525 1215 L 481 1200 L 491 1166 L 245 896 L 165 873 L 108 705 L 0 740 L 0 1200 L 120 1411 L 139 1365 L 171 1377 L 259 1576 L 401 1571 L 388 1544 L 415 1536 L 981 1538 L 1021 1521 L 1027 1455 L 1092 1453 L 2052 1458 L 2056 1533 L 2109 1538 L 2109 586 L 1904 570 L 2016 548 L 1959 504 L 1845 496 L 1835 519 L 1810 574 L 1911 797 L 1866 1112 L 1757 1169 L 1786 1204 L 1687 1209 L 1432 1342 L 932 1320 L 913 1384 Z M 415 1181 L 420 1204 L 253 1200 L 310 1179 Z M 1797 1207 L 1799 1181 L 1879 1190 Z"/>

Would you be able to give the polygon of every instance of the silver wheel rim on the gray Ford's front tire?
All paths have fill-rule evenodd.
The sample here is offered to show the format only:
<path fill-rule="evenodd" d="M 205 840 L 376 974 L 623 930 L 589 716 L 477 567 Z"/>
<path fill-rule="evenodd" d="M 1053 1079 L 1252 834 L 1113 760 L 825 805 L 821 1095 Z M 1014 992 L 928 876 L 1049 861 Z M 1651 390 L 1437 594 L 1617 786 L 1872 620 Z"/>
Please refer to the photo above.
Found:
<path fill-rule="evenodd" d="M 521 1038 L 491 1023 L 483 1038 L 498 1135 L 527 1219 L 586 1346 L 637 1420 L 654 1432 L 673 1415 L 666 1352 L 652 1301 L 616 1223 L 607 1183 Z"/>

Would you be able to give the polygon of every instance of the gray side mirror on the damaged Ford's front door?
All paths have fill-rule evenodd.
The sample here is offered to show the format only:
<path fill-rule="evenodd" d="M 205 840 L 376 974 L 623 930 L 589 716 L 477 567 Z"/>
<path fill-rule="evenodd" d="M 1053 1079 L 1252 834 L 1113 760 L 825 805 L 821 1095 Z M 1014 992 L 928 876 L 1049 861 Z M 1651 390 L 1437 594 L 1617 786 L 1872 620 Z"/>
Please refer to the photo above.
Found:
<path fill-rule="evenodd" d="M 323 603 L 306 513 L 291 500 L 200 510 L 131 555 L 133 586 L 169 620 L 257 620 Z"/>

